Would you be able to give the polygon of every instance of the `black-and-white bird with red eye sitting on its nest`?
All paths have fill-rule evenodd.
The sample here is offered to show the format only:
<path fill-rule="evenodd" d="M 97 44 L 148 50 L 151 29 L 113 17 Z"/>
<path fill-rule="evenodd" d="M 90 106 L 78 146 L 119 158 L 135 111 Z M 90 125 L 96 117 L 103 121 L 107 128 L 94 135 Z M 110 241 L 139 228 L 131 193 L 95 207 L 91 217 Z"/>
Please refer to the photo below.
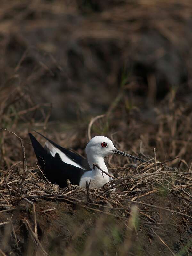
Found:
<path fill-rule="evenodd" d="M 87 144 L 85 152 L 87 159 L 57 145 L 41 133 L 39 135 L 46 139 L 43 147 L 36 138 L 29 133 L 30 140 L 36 154 L 38 163 L 46 176 L 53 184 L 64 188 L 70 184 L 86 188 L 86 181 L 92 188 L 101 188 L 109 182 L 110 177 L 104 161 L 104 157 L 117 154 L 146 162 L 143 159 L 129 155 L 115 148 L 113 142 L 105 136 L 95 136 Z M 97 164 L 94 166 L 94 164 Z M 107 174 L 101 172 L 102 169 Z"/>

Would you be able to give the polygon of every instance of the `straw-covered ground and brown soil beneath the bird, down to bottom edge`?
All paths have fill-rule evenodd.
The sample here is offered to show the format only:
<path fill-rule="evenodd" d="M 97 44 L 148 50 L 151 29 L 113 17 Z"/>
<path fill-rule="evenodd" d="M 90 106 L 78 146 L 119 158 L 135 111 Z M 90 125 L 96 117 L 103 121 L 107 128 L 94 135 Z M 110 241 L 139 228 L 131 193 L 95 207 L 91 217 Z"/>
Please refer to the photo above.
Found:
<path fill-rule="evenodd" d="M 34 174 L 27 174 L 17 195 L 11 184 L 17 187 L 22 175 L 18 176 L 13 168 L 7 177 L 11 198 L 6 183 L 1 187 L 3 252 L 14 255 L 190 255 L 191 199 L 186 191 L 190 191 L 191 183 L 173 185 L 170 182 L 169 188 L 169 183 L 160 180 L 171 181 L 174 177 L 179 181 L 176 176 L 181 172 L 175 168 L 171 173 L 165 167 L 161 172 L 162 167 L 158 167 L 154 173 L 148 171 L 152 165 L 143 166 L 142 169 L 147 170 L 144 174 L 125 174 L 124 181 L 114 179 L 116 191 L 112 193 L 105 192 L 107 187 L 89 188 L 88 192 L 74 185 L 61 189 L 38 177 L 37 170 L 33 169 Z"/>

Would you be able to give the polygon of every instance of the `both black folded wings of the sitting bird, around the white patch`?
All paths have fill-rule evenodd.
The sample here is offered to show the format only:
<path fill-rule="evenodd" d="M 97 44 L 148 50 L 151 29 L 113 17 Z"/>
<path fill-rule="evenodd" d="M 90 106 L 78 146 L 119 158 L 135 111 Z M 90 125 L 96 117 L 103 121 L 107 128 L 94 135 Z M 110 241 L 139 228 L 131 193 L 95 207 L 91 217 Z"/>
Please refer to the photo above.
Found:
<path fill-rule="evenodd" d="M 49 141 L 49 143 L 55 148 L 58 148 L 58 152 L 63 152 L 68 159 L 74 162 L 74 164 L 79 164 L 81 166 L 77 167 L 74 164 L 63 162 L 58 152 L 55 153 L 55 156 L 52 156 L 51 152 L 47 148 L 47 143 L 45 144 L 45 148 L 43 148 L 36 138 L 29 133 L 37 160 L 46 178 L 50 182 L 58 184 L 61 188 L 67 186 L 67 179 L 69 179 L 72 184 L 79 185 L 81 176 L 84 174 L 84 172 L 90 170 L 87 159 L 57 145 L 44 135 L 40 135 Z"/>

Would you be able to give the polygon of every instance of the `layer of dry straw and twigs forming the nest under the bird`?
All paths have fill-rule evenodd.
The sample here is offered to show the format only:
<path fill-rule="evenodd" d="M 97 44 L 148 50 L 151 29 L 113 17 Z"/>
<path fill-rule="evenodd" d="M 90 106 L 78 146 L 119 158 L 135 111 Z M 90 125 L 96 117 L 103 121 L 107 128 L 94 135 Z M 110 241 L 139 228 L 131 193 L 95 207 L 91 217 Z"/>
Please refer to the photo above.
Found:
<path fill-rule="evenodd" d="M 14 214 L 14 211 L 16 211 L 18 205 L 23 200 L 26 205 L 31 205 L 33 223 L 30 223 L 28 218 L 24 218 L 23 224 L 33 241 L 36 248 L 35 251 L 40 253 L 39 255 L 48 255 L 37 233 L 35 202 L 41 200 L 66 202 L 102 215 L 112 216 L 123 220 L 124 224 L 131 230 L 135 229 L 135 221 L 133 220 L 137 216 L 140 225 L 149 228 L 169 251 L 175 255 L 172 249 L 158 235 L 158 232 L 169 233 L 169 225 L 177 226 L 177 224 L 165 223 L 164 221 L 158 222 L 151 213 L 171 212 L 175 216 L 181 216 L 184 222 L 191 222 L 191 166 L 188 167 L 184 161 L 180 161 L 178 167 L 173 168 L 169 167 L 167 163 L 174 159 L 166 161 L 167 163 L 165 164 L 158 162 L 156 156 L 154 159 L 154 157 L 151 158 L 142 154 L 142 157 L 148 163 L 137 165 L 130 161 L 125 166 L 117 167 L 118 172 L 121 172 L 121 176 L 114 177 L 103 188 L 95 189 L 87 186 L 86 189 L 83 189 L 76 185 L 70 185 L 70 183 L 67 188 L 59 188 L 58 185 L 51 184 L 46 179 L 38 164 L 37 167 L 29 167 L 27 169 L 25 149 L 21 139 L 20 143 L 23 151 L 23 173 L 19 172 L 19 168 L 22 165 L 20 162 L 13 164 L 7 170 L 0 170 L 0 213 L 8 212 Z M 184 164 L 184 169 L 181 168 L 182 163 Z M 115 188 L 115 191 L 113 188 Z M 156 204 L 146 203 L 145 200 L 143 202 L 142 199 L 151 194 L 169 194 L 177 201 L 177 204 L 170 207 L 161 207 Z M 42 212 L 54 210 L 55 208 L 44 209 Z M 28 211 L 28 207 L 26 211 Z M 11 218 L 0 223 L 0 226 L 8 224 L 12 227 L 12 234 L 18 249 L 19 241 Z M 188 250 L 190 251 L 190 248 Z M 120 255 L 124 255 L 128 251 L 129 248 L 124 248 Z M 4 255 L 2 251 L 1 253 Z"/>

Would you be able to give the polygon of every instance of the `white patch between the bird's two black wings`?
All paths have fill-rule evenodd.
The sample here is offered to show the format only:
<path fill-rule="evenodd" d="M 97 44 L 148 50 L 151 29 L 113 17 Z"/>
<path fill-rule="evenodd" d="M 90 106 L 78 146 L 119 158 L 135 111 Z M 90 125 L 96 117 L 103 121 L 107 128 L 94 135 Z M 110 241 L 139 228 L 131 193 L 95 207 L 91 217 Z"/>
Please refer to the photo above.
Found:
<path fill-rule="evenodd" d="M 56 148 L 53 146 L 50 142 L 45 142 L 45 147 L 49 150 L 49 153 L 55 157 L 55 154 L 58 153 L 60 155 L 60 158 L 63 162 L 66 164 L 71 164 L 73 166 L 79 167 L 81 169 L 84 169 L 80 164 L 77 164 L 73 160 L 71 160 L 65 153 L 63 153 L 59 148 Z M 85 169 L 84 169 L 85 170 Z"/>

